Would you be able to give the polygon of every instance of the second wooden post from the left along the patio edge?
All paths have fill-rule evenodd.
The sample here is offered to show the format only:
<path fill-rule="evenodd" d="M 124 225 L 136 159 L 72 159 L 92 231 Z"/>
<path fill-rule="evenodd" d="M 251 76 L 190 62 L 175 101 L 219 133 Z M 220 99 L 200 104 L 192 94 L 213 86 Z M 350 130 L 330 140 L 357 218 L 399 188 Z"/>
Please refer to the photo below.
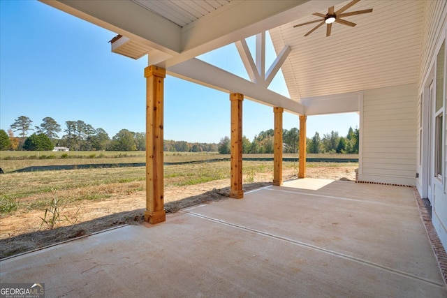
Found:
<path fill-rule="evenodd" d="M 230 94 L 231 102 L 231 188 L 230 198 L 244 198 L 242 190 L 242 100 L 239 93 Z"/>

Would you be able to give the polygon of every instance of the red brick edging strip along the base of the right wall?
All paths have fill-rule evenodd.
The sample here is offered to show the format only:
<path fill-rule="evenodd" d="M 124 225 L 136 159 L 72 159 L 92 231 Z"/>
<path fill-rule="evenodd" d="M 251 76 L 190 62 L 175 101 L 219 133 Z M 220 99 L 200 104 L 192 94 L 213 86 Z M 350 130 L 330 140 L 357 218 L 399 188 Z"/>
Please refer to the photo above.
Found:
<path fill-rule="evenodd" d="M 430 244 L 432 245 L 432 250 L 435 258 L 438 261 L 439 269 L 441 270 L 442 277 L 444 278 L 444 283 L 447 285 L 447 253 L 444 246 L 439 239 L 438 233 L 434 230 L 432 223 L 432 218 L 425 208 L 424 202 L 420 197 L 418 188 L 413 186 L 413 195 L 418 204 L 420 220 L 423 222 L 425 232 L 427 232 L 427 237 L 430 239 Z"/>

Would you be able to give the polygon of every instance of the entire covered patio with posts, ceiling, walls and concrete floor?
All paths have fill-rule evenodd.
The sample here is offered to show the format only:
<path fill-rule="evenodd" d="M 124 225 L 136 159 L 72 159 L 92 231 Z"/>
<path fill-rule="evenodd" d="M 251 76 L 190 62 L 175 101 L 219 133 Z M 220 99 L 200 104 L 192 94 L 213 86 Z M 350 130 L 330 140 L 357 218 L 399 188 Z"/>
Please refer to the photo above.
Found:
<path fill-rule="evenodd" d="M 445 1 L 163 1 L 168 8 L 161 1 L 41 1 L 116 32 L 112 52 L 148 57 L 145 219 L 152 225 L 128 225 L 2 260 L 2 283 L 42 281 L 50 297 L 447 296 L 434 255 L 445 255 L 447 241 Z M 185 19 L 204 3 L 209 10 Z M 339 27 L 331 36 L 315 31 L 307 38 L 308 28 L 295 29 L 353 5 L 374 8 L 374 14 L 350 19 L 359 23 L 356 30 Z M 270 68 L 265 31 L 277 54 Z M 254 53 L 250 36 L 256 36 Z M 230 43 L 250 80 L 196 58 Z M 268 89 L 280 69 L 290 98 Z M 243 200 L 166 216 L 166 75 L 229 94 L 230 197 Z M 274 112 L 274 186 L 251 193 L 242 188 L 244 99 Z M 439 110 L 436 123 L 431 108 Z M 284 112 L 299 116 L 300 178 L 307 117 L 359 112 L 359 181 L 372 184 L 283 182 Z M 441 239 L 434 248 L 417 192 L 432 204 Z"/>

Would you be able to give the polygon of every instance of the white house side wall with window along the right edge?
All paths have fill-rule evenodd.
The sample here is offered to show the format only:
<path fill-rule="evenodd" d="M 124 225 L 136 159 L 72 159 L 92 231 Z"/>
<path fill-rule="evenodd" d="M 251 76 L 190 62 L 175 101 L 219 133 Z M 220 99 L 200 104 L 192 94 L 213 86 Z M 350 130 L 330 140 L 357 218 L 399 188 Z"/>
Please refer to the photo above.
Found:
<path fill-rule="evenodd" d="M 446 53 L 444 52 L 444 82 L 437 82 L 437 54 L 441 48 L 442 43 L 446 42 L 447 36 L 447 1 L 425 1 L 424 17 L 423 17 L 423 36 L 421 40 L 421 52 L 420 52 L 420 80 L 418 84 L 418 93 L 420 97 L 420 115 L 418 117 L 418 127 L 423 127 L 423 131 L 426 134 L 425 137 L 418 137 L 418 147 L 420 147 L 420 155 L 422 156 L 421 168 L 428 167 L 425 179 L 417 180 L 417 187 L 420 195 L 430 200 L 432 204 L 432 223 L 434 225 L 441 243 L 447 248 L 447 130 L 446 130 L 446 107 L 447 107 L 447 96 L 446 96 Z M 442 163 L 444 164 L 444 169 L 439 177 L 434 176 L 434 147 L 435 147 L 435 135 L 434 130 L 434 108 L 433 105 L 426 103 L 428 95 L 430 92 L 427 86 L 430 82 L 434 82 L 434 89 L 444 90 L 444 107 L 442 107 L 443 116 L 443 127 L 442 127 Z M 429 109 L 430 112 L 424 111 Z M 422 123 L 421 123 L 422 122 Z M 432 126 L 432 131 L 427 126 Z M 428 132 L 427 132 L 428 131 Z M 423 134 L 424 134 L 423 133 Z M 425 145 L 426 142 L 430 146 Z M 420 143 L 420 144 L 419 144 Z M 425 149 L 425 151 L 424 151 Z M 425 160 L 424 160 L 425 156 Z M 430 191 L 427 191 L 427 185 Z"/>

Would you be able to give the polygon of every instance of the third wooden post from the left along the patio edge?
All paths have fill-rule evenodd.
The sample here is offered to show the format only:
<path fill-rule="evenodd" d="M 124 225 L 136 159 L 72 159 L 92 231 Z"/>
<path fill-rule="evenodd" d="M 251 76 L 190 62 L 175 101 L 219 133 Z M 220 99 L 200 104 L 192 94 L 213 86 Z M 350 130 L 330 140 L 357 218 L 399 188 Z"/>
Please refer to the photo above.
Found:
<path fill-rule="evenodd" d="M 274 147 L 273 147 L 273 185 L 282 185 L 282 113 L 284 108 L 273 107 Z"/>

